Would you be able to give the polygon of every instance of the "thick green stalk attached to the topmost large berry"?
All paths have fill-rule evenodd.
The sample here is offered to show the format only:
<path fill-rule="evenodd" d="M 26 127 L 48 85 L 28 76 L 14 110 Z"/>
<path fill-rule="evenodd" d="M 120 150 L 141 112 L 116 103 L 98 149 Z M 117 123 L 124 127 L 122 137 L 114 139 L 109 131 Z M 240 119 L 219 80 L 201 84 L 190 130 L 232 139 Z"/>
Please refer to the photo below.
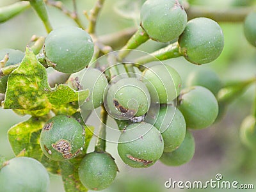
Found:
<path fill-rule="evenodd" d="M 139 28 L 134 35 L 129 39 L 126 45 L 119 51 L 118 60 L 122 61 L 132 49 L 136 49 L 141 44 L 147 42 L 149 36 L 144 29 Z"/>

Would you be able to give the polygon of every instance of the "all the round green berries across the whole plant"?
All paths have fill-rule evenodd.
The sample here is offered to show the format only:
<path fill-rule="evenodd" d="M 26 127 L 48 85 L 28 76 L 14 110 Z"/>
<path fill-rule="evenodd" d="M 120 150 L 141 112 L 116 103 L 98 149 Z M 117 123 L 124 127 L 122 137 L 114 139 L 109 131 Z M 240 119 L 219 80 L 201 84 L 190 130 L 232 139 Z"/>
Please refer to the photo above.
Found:
<path fill-rule="evenodd" d="M 244 22 L 245 35 L 255 45 L 255 13 Z M 223 50 L 220 26 L 211 19 L 187 19 L 177 0 L 147 0 L 141 8 L 141 28 L 158 42 L 178 41 L 186 60 L 197 65 L 209 63 Z M 72 74 L 67 84 L 74 90 L 90 90 L 88 99 L 79 103 L 81 111 L 104 106 L 118 122 L 121 134 L 118 154 L 133 168 L 147 168 L 156 161 L 168 166 L 188 163 L 195 153 L 191 130 L 209 127 L 216 120 L 219 106 L 216 94 L 222 84 L 209 70 L 193 72 L 182 89 L 179 73 L 169 65 L 146 68 L 140 77 L 108 81 L 104 72 L 85 68 L 93 57 L 93 41 L 86 31 L 76 27 L 54 29 L 44 44 L 46 63 L 56 70 Z M 24 53 L 12 49 L 5 67 L 20 63 Z M 0 92 L 6 92 L 8 76 L 0 79 Z M 241 136 L 252 143 L 255 118 L 248 117 Z M 45 123 L 40 146 L 53 161 L 68 161 L 81 154 L 86 141 L 86 125 L 74 116 L 57 115 Z M 251 141 L 251 142 L 249 142 Z M 14 171 L 13 171 L 14 170 Z M 107 152 L 86 154 L 79 166 L 79 179 L 92 190 L 108 188 L 116 177 L 115 159 Z M 26 177 L 20 173 L 26 173 Z M 36 177 L 35 177 L 36 175 Z M 11 178 L 11 179 L 9 179 Z M 8 184 L 6 184 L 8 183 Z M 44 166 L 29 157 L 7 161 L 0 171 L 0 191 L 47 191 L 49 176 Z"/>

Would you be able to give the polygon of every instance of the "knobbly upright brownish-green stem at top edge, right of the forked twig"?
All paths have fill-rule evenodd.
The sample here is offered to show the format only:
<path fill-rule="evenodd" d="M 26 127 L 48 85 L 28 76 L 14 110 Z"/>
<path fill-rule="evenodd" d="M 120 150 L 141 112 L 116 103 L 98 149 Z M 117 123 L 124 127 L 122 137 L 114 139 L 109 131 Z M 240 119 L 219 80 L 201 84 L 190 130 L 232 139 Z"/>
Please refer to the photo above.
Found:
<path fill-rule="evenodd" d="M 95 33 L 96 22 L 105 0 L 98 0 L 90 11 L 88 33 Z"/>

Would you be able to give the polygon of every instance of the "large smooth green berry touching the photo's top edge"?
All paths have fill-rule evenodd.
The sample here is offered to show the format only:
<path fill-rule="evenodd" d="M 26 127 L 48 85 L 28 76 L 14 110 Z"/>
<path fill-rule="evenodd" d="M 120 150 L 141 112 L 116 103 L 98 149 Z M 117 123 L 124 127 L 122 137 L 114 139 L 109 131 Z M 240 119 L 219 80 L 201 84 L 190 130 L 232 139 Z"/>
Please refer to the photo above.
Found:
<path fill-rule="evenodd" d="M 159 42 L 170 42 L 184 31 L 188 18 L 177 0 L 148 0 L 141 8 L 141 27 Z"/>

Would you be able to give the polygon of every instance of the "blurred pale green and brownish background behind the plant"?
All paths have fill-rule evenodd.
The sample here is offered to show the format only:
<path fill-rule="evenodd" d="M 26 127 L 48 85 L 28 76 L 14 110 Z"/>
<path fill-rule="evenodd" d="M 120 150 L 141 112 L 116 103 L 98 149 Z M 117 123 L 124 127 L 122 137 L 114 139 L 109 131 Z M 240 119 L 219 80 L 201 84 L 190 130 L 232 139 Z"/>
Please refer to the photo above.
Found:
<path fill-rule="evenodd" d="M 0 6 L 15 3 L 17 1 L 1 0 Z M 97 34 L 104 35 L 116 32 L 128 27 L 137 27 L 140 22 L 140 5 L 143 1 L 129 0 L 106 0 L 106 4 L 100 14 L 97 24 Z M 255 1 L 191 1 L 193 4 L 205 4 L 217 9 L 225 7 L 244 6 L 246 3 Z M 67 8 L 72 10 L 72 1 L 63 1 Z M 90 10 L 95 1 L 77 0 L 78 13 L 86 26 L 88 22 L 83 15 L 83 10 Z M 116 11 L 117 10 L 117 11 Z M 49 15 L 52 26 L 75 25 L 71 19 L 61 13 L 56 8 L 49 7 Z M 220 23 L 225 35 L 224 50 L 216 61 L 204 66 L 196 66 L 188 63 L 184 58 L 164 61 L 164 63 L 175 68 L 186 82 L 189 72 L 198 70 L 198 68 L 212 68 L 221 77 L 223 82 L 230 80 L 248 79 L 256 75 L 256 49 L 252 47 L 243 34 L 242 23 Z M 33 10 L 26 10 L 17 17 L 0 24 L 0 49 L 12 48 L 24 51 L 32 35 L 47 35 L 44 26 Z M 149 41 L 139 47 L 140 50 L 152 52 L 163 44 Z M 207 77 L 205 77 L 207 78 Z M 172 180 L 211 180 L 215 179 L 217 173 L 223 175 L 223 180 L 237 180 L 241 184 L 254 184 L 256 188 L 256 154 L 248 150 L 239 140 L 239 126 L 244 117 L 251 112 L 253 97 L 255 97 L 255 86 L 251 86 L 241 97 L 228 106 L 226 115 L 222 120 L 216 122 L 211 127 L 193 131 L 196 141 L 195 156 L 188 164 L 179 167 L 168 167 L 161 163 L 147 169 L 129 168 L 122 163 L 118 157 L 116 145 L 107 144 L 107 150 L 116 159 L 120 173 L 109 189 L 104 191 L 179 191 L 179 189 L 165 189 L 164 182 Z M 0 154 L 12 158 L 13 152 L 8 143 L 7 131 L 12 125 L 22 120 L 28 119 L 28 116 L 15 115 L 11 110 L 0 108 Z M 88 124 L 99 125 L 95 115 L 92 115 Z M 88 149 L 93 150 L 95 138 L 93 138 Z M 185 189 L 182 189 L 185 190 Z M 198 191 L 196 189 L 194 191 Z M 227 189 L 204 189 L 204 191 L 226 191 Z M 232 189 L 231 189 L 232 190 Z M 243 189 L 240 189 L 244 191 Z M 61 178 L 51 175 L 50 191 L 64 191 Z M 192 190 L 193 191 L 193 190 Z M 239 191 L 237 189 L 236 191 Z M 247 189 L 246 191 L 250 191 Z M 252 189 L 251 191 L 256 191 Z"/>

